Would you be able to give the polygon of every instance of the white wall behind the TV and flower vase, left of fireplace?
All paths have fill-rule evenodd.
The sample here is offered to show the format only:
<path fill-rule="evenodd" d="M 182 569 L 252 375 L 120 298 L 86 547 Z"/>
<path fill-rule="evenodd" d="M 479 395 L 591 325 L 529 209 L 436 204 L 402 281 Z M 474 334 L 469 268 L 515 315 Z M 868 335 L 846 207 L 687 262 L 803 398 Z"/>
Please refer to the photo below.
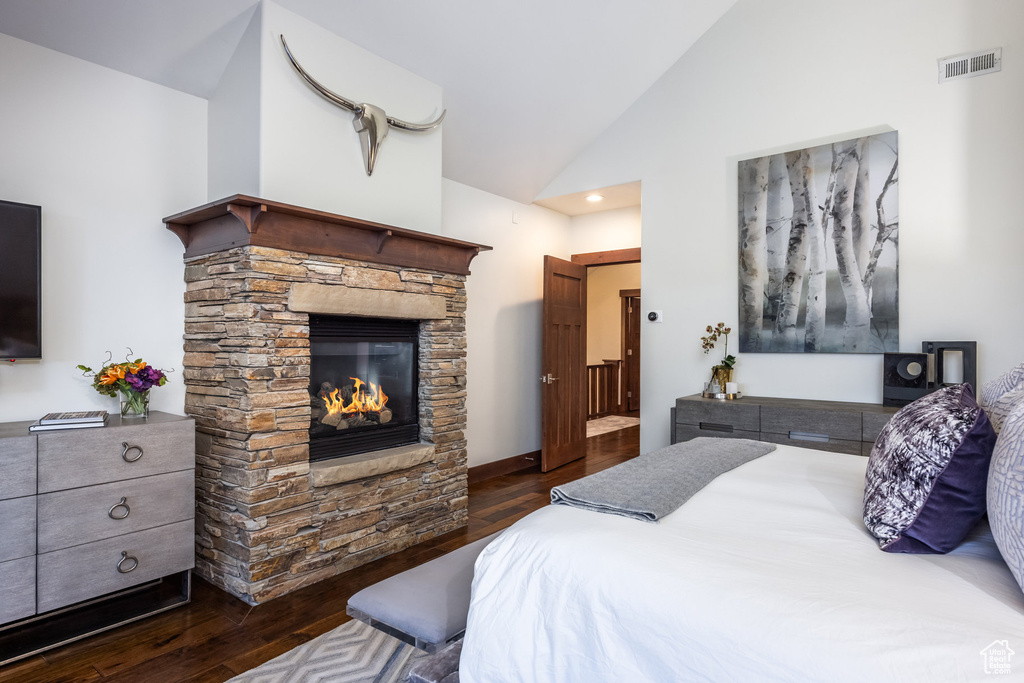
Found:
<path fill-rule="evenodd" d="M 117 410 L 75 369 L 125 346 L 174 370 L 183 248 L 164 216 L 206 198 L 205 100 L 0 35 L 0 197 L 43 207 L 43 360 L 0 367 L 3 421 Z"/>

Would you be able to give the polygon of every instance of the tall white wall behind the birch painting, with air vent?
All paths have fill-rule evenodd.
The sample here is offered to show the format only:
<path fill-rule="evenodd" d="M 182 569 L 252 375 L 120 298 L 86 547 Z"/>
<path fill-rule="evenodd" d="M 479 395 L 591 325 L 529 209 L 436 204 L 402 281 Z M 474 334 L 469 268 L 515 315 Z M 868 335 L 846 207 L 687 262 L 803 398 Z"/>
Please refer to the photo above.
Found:
<path fill-rule="evenodd" d="M 641 450 L 698 390 L 706 325 L 737 310 L 736 163 L 895 129 L 900 347 L 977 340 L 980 381 L 1021 360 L 1024 3 L 740 0 L 543 196 L 640 178 Z M 1004 71 L 939 85 L 936 59 L 1001 46 Z M 657 134 L 651 134 L 657 131 Z M 880 401 L 881 355 L 740 354 L 752 394 Z"/>

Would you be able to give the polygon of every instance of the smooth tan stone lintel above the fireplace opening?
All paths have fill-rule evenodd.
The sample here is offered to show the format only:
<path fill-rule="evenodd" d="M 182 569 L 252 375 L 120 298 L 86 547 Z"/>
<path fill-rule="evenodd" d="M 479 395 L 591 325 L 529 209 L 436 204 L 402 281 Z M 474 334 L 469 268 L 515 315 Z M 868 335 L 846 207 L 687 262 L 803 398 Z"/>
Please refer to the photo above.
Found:
<path fill-rule="evenodd" d="M 364 315 L 403 319 L 439 321 L 447 313 L 444 297 L 433 294 L 367 290 L 344 285 L 295 283 L 288 308 L 304 313 Z"/>

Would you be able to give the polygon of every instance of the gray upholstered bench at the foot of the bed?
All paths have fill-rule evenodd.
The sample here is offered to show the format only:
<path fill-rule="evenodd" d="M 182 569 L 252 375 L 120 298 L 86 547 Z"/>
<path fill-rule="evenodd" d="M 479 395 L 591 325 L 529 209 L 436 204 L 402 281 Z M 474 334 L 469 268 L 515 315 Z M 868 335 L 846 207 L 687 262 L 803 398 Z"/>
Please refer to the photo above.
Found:
<path fill-rule="evenodd" d="M 473 564 L 498 533 L 365 588 L 348 599 L 353 618 L 427 652 L 466 630 Z"/>

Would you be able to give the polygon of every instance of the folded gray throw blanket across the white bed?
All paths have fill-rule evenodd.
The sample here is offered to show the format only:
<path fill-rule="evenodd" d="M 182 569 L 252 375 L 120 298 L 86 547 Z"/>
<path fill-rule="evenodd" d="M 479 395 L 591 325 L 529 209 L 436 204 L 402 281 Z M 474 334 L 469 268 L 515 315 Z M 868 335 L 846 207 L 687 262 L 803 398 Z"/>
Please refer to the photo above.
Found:
<path fill-rule="evenodd" d="M 656 522 L 719 474 L 774 450 L 763 441 L 700 436 L 555 486 L 551 503 Z"/>

